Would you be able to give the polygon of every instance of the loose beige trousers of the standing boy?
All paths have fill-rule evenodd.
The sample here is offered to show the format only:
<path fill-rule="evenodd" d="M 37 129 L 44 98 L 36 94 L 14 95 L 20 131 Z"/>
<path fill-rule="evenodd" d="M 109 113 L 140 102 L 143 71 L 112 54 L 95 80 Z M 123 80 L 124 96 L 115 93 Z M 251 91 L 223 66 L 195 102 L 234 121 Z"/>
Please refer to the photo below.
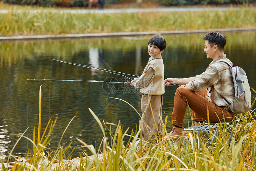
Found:
<path fill-rule="evenodd" d="M 151 104 L 151 107 L 150 107 Z M 162 123 L 163 95 L 142 94 L 141 97 L 141 136 L 145 141 L 155 137 L 163 137 Z M 152 108 L 152 110 L 151 110 Z M 153 111 L 153 113 L 152 113 Z M 149 129 L 149 128 L 151 129 Z"/>

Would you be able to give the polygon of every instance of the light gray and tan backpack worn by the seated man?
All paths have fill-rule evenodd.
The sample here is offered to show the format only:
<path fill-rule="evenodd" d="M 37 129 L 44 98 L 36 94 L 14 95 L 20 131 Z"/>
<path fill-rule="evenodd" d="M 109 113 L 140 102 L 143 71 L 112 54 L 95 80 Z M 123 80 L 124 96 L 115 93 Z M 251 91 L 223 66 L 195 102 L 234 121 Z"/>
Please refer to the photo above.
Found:
<path fill-rule="evenodd" d="M 228 59 L 229 60 L 229 59 Z M 218 60 L 217 62 L 225 62 L 225 60 Z M 231 104 L 224 97 L 222 97 L 232 108 L 235 114 L 246 113 L 251 108 L 251 90 L 248 83 L 248 79 L 245 71 L 239 66 L 234 66 L 229 60 L 227 63 L 231 67 L 234 88 L 235 88 L 235 98 L 234 103 Z"/>

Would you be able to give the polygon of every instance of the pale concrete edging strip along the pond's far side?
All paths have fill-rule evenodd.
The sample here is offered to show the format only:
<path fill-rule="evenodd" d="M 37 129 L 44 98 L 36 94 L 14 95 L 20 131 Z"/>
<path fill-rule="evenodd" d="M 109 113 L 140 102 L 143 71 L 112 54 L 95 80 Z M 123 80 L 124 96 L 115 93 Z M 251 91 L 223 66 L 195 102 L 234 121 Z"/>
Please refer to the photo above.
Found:
<path fill-rule="evenodd" d="M 142 36 L 142 35 L 194 34 L 194 33 L 206 33 L 206 32 L 209 32 L 209 31 L 248 32 L 248 31 L 256 31 L 256 27 L 225 28 L 225 29 L 202 29 L 202 30 L 177 30 L 177 31 L 155 31 L 155 32 L 112 32 L 112 33 L 85 33 L 85 34 L 63 34 L 63 35 L 3 36 L 3 37 L 0 37 L 0 42 L 1 41 L 77 39 L 77 38 L 108 38 L 108 37 L 123 37 L 123 36 Z"/>

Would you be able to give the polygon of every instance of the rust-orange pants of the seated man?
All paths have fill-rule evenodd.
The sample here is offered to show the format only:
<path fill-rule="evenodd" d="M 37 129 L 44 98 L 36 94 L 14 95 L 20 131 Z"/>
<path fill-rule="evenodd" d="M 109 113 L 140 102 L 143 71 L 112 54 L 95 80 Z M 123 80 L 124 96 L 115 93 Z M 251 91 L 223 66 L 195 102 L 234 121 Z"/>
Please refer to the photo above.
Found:
<path fill-rule="evenodd" d="M 207 109 L 209 109 L 210 122 L 231 121 L 234 114 L 230 114 L 223 108 L 206 100 L 207 90 L 193 92 L 188 88 L 179 87 L 174 96 L 174 107 L 171 115 L 172 124 L 182 127 L 185 112 L 188 106 L 192 109 L 192 119 L 196 121 L 207 120 Z"/>

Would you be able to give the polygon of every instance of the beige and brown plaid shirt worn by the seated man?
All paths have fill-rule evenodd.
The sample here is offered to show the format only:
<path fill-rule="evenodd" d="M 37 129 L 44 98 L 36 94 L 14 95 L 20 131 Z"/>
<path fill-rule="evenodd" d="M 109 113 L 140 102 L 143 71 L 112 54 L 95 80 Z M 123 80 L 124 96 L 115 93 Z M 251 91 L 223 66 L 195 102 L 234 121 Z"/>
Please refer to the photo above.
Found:
<path fill-rule="evenodd" d="M 206 100 L 232 110 L 230 105 L 222 98 L 224 97 L 231 104 L 234 103 L 235 91 L 231 68 L 224 62 L 216 62 L 220 59 L 227 60 L 226 54 L 213 60 L 205 72 L 197 75 L 195 80 L 188 83 L 188 88 L 197 92 L 208 88 Z M 227 62 L 229 63 L 228 60 Z"/>

